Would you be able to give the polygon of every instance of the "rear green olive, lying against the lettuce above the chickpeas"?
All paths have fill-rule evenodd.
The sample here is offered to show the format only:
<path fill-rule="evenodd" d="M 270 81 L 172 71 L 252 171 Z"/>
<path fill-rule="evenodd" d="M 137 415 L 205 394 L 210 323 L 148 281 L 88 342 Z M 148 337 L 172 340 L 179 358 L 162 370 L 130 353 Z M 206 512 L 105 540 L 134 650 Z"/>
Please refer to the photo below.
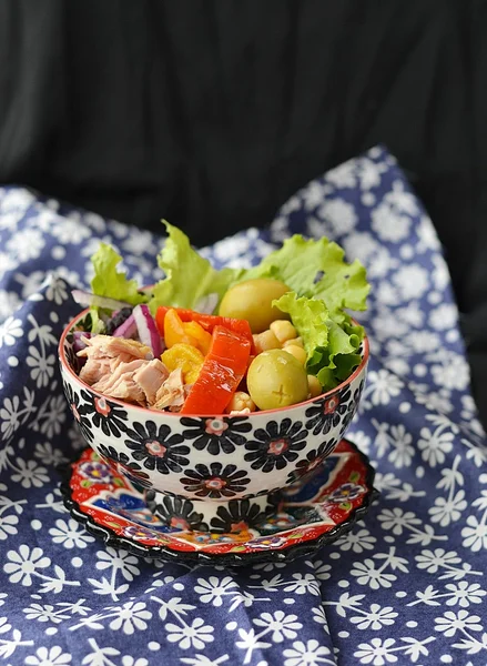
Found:
<path fill-rule="evenodd" d="M 229 289 L 220 303 L 219 314 L 246 319 L 252 333 L 262 333 L 274 320 L 288 319 L 272 305 L 274 299 L 280 299 L 288 291 L 284 282 L 271 278 L 247 280 Z"/>

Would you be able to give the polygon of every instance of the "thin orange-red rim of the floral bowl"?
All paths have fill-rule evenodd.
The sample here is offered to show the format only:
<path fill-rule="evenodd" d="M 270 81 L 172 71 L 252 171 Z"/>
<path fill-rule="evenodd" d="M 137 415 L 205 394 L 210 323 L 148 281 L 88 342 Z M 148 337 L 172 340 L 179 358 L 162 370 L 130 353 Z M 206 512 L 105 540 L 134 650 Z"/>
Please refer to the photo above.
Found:
<path fill-rule="evenodd" d="M 87 314 L 89 313 L 90 309 L 87 307 L 85 310 L 83 310 L 82 312 L 80 312 L 77 316 L 74 316 L 64 327 L 61 337 L 59 340 L 59 345 L 58 345 L 58 356 L 60 360 L 60 363 L 63 367 L 63 370 L 71 375 L 71 377 L 74 380 L 74 382 L 84 390 L 90 391 L 91 393 L 93 393 L 95 396 L 98 397 L 102 397 L 104 400 L 109 400 L 111 403 L 115 404 L 115 405 L 120 405 L 122 407 L 126 408 L 131 408 L 131 410 L 136 410 L 139 412 L 143 412 L 145 415 L 148 414 L 164 414 L 164 416 L 169 416 L 169 417 L 189 417 L 189 418 L 219 418 L 221 421 L 223 421 L 224 418 L 235 418 L 239 416 L 239 414 L 235 415 L 230 415 L 230 414 L 181 414 L 180 412 L 165 412 L 163 410 L 150 410 L 149 407 L 141 407 L 140 405 L 133 405 L 131 403 L 126 403 L 123 402 L 122 400 L 119 400 L 118 397 L 111 397 L 110 395 L 105 395 L 104 393 L 100 393 L 99 391 L 95 391 L 92 386 L 90 386 L 89 384 L 87 384 L 85 382 L 83 382 L 82 380 L 80 380 L 80 377 L 75 374 L 75 372 L 72 370 L 72 367 L 70 366 L 70 364 L 68 363 L 68 360 L 65 357 L 65 353 L 64 353 L 64 341 L 68 337 L 68 335 L 70 334 L 71 330 L 73 329 L 73 326 L 75 326 L 75 324 L 83 319 L 84 316 L 87 316 Z M 356 320 L 354 320 L 352 317 L 352 321 L 354 323 L 358 323 L 356 322 Z M 347 386 L 348 384 L 352 384 L 352 382 L 362 373 L 362 371 L 365 369 L 365 366 L 368 363 L 368 356 L 369 356 L 369 344 L 368 344 L 368 337 L 367 334 L 365 333 L 364 335 L 364 340 L 363 340 L 363 345 L 364 345 L 364 353 L 363 353 L 363 357 L 362 357 L 362 362 L 358 365 L 358 367 L 356 367 L 354 370 L 354 372 L 351 374 L 349 377 L 347 377 L 345 381 L 343 381 L 341 384 L 338 384 L 337 386 L 335 386 L 334 389 L 331 389 L 329 391 L 326 391 L 325 393 L 322 393 L 319 395 L 316 395 L 315 397 L 310 397 L 308 400 L 301 402 L 301 403 L 296 403 L 294 405 L 287 405 L 285 407 L 276 407 L 275 410 L 260 410 L 258 412 L 251 412 L 250 414 L 241 414 L 240 416 L 246 416 L 248 418 L 251 418 L 252 416 L 257 416 L 257 415 L 264 415 L 264 414 L 275 414 L 275 413 L 280 413 L 280 412 L 288 412 L 290 410 L 293 410 L 295 407 L 301 407 L 304 405 L 312 405 L 314 402 L 316 402 L 317 400 L 326 400 L 327 397 L 331 397 L 332 395 L 335 395 L 338 391 L 343 390 L 345 386 Z"/>

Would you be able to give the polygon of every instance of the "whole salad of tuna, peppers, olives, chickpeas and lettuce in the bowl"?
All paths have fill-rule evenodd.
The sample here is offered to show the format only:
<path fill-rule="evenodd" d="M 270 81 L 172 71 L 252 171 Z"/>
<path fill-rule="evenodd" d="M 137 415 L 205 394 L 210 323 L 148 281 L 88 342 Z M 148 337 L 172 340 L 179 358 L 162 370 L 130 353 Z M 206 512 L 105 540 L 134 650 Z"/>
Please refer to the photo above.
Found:
<path fill-rule="evenodd" d="M 89 314 L 73 332 L 79 376 L 150 410 L 246 414 L 290 406 L 346 380 L 362 362 L 369 285 L 358 262 L 326 238 L 294 235 L 252 269 L 216 270 L 164 222 L 151 287 L 129 280 L 101 244 Z"/>

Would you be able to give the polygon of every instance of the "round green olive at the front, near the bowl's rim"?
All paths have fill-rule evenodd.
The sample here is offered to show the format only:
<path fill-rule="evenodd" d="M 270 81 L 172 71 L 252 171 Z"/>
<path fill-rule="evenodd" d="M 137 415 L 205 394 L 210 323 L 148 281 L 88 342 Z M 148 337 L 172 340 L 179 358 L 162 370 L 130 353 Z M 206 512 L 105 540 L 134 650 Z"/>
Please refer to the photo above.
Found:
<path fill-rule="evenodd" d="M 268 350 L 255 356 L 247 372 L 247 389 L 260 410 L 303 402 L 310 391 L 303 365 L 283 350 Z"/>

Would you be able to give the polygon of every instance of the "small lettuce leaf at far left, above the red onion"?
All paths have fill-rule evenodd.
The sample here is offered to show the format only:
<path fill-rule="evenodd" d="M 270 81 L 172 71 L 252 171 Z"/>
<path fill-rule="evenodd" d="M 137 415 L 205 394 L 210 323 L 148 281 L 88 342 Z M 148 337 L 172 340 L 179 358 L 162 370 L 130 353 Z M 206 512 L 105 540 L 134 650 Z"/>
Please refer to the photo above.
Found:
<path fill-rule="evenodd" d="M 91 261 L 94 268 L 91 290 L 94 294 L 124 301 L 131 305 L 146 301 L 146 296 L 139 293 L 136 280 L 128 280 L 125 273 L 119 273 L 116 270 L 122 258 L 113 248 L 101 243 Z"/>

